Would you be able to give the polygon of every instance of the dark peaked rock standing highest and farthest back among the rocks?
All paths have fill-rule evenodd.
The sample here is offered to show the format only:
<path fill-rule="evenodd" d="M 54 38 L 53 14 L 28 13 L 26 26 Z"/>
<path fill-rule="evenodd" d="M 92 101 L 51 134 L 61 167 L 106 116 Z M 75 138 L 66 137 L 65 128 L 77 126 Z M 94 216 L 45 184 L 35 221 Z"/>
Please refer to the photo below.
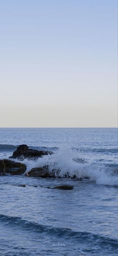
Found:
<path fill-rule="evenodd" d="M 28 148 L 27 145 L 19 145 L 17 149 L 13 152 L 12 156 L 9 158 L 33 158 L 33 157 L 42 157 L 43 155 L 52 154 L 50 151 L 42 151 Z"/>

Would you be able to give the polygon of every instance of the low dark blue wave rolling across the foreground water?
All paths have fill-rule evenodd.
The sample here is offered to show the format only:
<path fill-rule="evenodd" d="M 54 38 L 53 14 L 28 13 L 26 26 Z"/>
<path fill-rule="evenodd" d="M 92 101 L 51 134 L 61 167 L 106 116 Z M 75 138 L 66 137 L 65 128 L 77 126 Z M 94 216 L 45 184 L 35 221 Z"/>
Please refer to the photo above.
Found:
<path fill-rule="evenodd" d="M 4 222 L 5 225 L 17 226 L 18 228 L 27 229 L 33 232 L 39 233 L 47 233 L 48 235 L 54 235 L 58 237 L 66 237 L 68 239 L 72 238 L 72 240 L 81 240 L 81 241 L 94 241 L 97 244 L 110 245 L 112 247 L 118 246 L 118 240 L 114 238 L 110 238 L 107 236 L 101 236 L 99 234 L 94 234 L 86 231 L 74 231 L 70 228 L 63 227 L 54 227 L 49 225 L 42 225 L 33 221 L 27 221 L 20 217 L 15 216 L 7 216 L 0 214 L 0 222 Z"/>

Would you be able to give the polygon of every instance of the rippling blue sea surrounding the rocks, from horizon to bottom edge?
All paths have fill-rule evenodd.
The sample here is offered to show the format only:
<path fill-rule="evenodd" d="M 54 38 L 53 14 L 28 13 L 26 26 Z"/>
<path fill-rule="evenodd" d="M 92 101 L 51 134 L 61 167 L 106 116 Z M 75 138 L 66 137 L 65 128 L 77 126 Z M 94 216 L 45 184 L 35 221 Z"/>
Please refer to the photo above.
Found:
<path fill-rule="evenodd" d="M 54 152 L 24 159 L 27 171 L 61 170 L 61 179 L 0 176 L 0 256 L 118 254 L 117 139 L 116 128 L 0 128 L 0 159 L 26 144 Z M 61 184 L 74 188 L 47 188 Z"/>

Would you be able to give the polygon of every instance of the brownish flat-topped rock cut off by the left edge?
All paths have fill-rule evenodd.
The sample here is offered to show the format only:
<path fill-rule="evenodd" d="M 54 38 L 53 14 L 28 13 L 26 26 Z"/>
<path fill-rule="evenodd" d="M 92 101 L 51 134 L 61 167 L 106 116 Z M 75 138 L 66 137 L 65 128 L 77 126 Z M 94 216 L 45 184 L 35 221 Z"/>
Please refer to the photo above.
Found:
<path fill-rule="evenodd" d="M 20 175 L 24 174 L 26 165 L 11 160 L 0 160 L 0 175 L 11 174 Z"/>

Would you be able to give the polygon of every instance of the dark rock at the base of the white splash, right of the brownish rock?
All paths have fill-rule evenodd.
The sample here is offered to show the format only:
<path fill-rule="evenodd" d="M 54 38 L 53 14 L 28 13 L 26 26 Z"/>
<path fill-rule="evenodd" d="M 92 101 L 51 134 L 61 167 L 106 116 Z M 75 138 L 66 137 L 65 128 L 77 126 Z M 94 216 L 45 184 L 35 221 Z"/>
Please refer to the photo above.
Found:
<path fill-rule="evenodd" d="M 30 171 L 26 173 L 28 177 L 42 177 L 42 178 L 50 178 L 52 175 L 48 171 L 48 166 L 32 168 Z"/>

